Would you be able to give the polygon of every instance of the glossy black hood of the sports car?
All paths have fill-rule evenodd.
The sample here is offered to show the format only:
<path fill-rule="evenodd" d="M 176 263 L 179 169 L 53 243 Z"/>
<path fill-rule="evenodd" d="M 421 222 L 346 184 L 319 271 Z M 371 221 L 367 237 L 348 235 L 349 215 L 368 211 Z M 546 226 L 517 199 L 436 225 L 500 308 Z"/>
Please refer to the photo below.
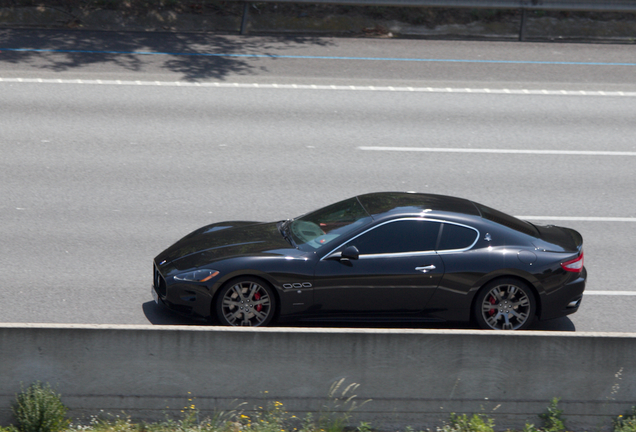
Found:
<path fill-rule="evenodd" d="M 276 222 L 220 222 L 188 234 L 165 251 L 155 262 L 172 263 L 178 269 L 199 267 L 232 256 L 254 255 L 290 249 Z"/>

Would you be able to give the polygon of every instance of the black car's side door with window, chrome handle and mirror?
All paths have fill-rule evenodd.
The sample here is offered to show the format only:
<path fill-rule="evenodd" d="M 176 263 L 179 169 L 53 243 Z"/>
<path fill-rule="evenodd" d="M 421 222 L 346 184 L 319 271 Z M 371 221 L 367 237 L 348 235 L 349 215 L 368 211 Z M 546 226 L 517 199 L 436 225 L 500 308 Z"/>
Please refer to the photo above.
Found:
<path fill-rule="evenodd" d="M 340 317 L 419 314 L 444 274 L 435 252 L 439 222 L 405 218 L 379 224 L 323 257 L 315 268 L 314 311 Z M 338 259 L 354 246 L 357 259 Z"/>

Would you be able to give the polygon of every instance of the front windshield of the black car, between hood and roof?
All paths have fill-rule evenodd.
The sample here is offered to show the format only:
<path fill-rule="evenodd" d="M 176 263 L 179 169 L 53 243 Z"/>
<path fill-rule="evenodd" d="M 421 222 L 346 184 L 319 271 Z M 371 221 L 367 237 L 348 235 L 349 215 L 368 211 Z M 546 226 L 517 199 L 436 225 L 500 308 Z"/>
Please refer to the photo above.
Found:
<path fill-rule="evenodd" d="M 289 230 L 300 249 L 311 251 L 371 220 L 358 199 L 350 198 L 292 220 Z"/>

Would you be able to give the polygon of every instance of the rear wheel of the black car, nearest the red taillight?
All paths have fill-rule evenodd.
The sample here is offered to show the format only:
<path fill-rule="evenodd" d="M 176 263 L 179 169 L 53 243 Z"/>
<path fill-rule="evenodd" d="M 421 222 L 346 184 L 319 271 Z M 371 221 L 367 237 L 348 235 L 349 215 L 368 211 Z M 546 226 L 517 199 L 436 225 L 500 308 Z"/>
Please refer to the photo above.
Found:
<path fill-rule="evenodd" d="M 490 330 L 525 330 L 534 321 L 537 302 L 530 287 L 513 278 L 487 283 L 474 305 L 479 327 Z"/>

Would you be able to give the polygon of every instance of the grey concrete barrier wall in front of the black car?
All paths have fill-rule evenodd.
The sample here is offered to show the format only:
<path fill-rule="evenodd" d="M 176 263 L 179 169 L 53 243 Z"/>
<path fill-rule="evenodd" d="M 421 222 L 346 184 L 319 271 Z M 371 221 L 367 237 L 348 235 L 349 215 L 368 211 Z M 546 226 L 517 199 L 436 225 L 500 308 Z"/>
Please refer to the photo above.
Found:
<path fill-rule="evenodd" d="M 0 424 L 36 380 L 73 417 L 161 420 L 273 401 L 304 416 L 344 378 L 372 399 L 356 421 L 379 429 L 434 428 L 451 412 L 521 429 L 560 397 L 568 430 L 602 430 L 636 404 L 635 353 L 634 334 L 3 324 Z"/>

